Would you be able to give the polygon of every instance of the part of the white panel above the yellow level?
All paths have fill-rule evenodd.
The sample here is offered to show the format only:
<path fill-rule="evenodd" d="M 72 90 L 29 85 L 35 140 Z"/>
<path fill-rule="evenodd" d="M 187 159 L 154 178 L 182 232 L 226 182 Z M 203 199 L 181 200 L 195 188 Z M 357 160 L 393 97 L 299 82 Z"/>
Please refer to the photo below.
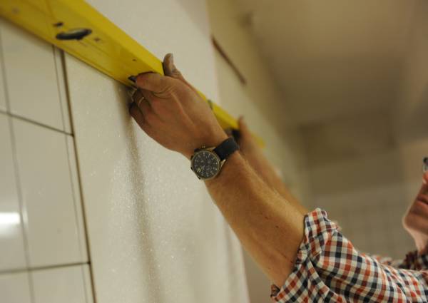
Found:
<path fill-rule="evenodd" d="M 163 59 L 174 61 L 200 91 L 218 101 L 213 47 L 205 1 L 197 0 L 88 0 L 126 34 Z"/>

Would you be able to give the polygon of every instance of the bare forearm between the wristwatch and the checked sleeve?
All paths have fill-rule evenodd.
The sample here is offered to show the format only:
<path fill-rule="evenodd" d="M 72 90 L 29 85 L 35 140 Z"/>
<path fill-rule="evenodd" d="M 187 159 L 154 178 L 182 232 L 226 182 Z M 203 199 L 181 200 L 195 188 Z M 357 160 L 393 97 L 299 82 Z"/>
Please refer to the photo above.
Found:
<path fill-rule="evenodd" d="M 267 186 L 240 153 L 205 184 L 245 250 L 267 277 L 282 285 L 302 242 L 302 213 Z"/>

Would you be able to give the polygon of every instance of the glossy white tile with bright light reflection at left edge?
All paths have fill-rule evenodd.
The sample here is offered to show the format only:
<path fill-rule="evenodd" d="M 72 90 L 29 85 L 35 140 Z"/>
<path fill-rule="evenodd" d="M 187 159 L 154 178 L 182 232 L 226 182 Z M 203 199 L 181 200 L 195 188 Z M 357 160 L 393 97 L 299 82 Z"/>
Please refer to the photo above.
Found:
<path fill-rule="evenodd" d="M 0 113 L 0 270 L 26 267 L 8 119 Z"/>

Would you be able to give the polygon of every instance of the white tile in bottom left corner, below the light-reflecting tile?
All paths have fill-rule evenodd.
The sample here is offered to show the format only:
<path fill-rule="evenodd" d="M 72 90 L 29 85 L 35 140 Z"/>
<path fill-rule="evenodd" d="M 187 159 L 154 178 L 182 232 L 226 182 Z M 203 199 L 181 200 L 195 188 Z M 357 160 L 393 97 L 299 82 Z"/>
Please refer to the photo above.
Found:
<path fill-rule="evenodd" d="M 29 274 L 0 274 L 0 298 L 4 303 L 31 303 Z"/>

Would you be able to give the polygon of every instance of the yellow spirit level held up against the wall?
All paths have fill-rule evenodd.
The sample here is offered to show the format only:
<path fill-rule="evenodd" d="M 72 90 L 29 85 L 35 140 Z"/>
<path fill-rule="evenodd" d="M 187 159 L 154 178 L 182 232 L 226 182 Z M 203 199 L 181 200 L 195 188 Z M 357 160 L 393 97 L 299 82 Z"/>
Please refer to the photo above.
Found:
<path fill-rule="evenodd" d="M 152 71 L 163 74 L 161 60 L 86 1 L 0 0 L 0 16 L 126 86 L 133 86 L 129 77 L 138 73 Z M 72 38 L 73 34 L 79 32 L 81 38 L 59 39 L 62 34 L 66 38 Z M 86 36 L 83 36 L 84 34 Z M 215 118 L 224 129 L 238 129 L 235 118 L 220 106 L 208 101 L 203 93 L 200 93 L 200 96 L 211 106 Z M 253 136 L 260 146 L 265 146 L 263 139 Z"/>

